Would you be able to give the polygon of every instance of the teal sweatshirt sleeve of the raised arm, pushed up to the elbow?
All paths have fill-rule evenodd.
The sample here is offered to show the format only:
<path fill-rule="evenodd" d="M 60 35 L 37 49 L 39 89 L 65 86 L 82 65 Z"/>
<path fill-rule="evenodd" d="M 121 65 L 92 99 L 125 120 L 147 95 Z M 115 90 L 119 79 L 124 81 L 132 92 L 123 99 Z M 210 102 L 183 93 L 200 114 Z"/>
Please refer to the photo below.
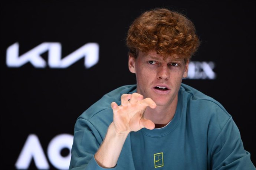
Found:
<path fill-rule="evenodd" d="M 94 159 L 102 141 L 103 137 L 98 130 L 88 120 L 79 118 L 74 129 L 69 170 L 104 170 Z"/>

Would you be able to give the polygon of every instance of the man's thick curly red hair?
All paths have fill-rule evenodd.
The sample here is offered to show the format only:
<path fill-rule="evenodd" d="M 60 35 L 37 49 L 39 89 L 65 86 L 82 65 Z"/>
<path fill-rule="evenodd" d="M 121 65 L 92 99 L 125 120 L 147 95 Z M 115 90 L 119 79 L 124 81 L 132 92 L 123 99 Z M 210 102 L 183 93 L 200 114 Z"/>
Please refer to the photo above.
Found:
<path fill-rule="evenodd" d="M 146 11 L 136 18 L 128 30 L 129 55 L 137 57 L 138 50 L 156 50 L 158 54 L 190 59 L 200 41 L 194 24 L 183 14 L 166 8 Z"/>

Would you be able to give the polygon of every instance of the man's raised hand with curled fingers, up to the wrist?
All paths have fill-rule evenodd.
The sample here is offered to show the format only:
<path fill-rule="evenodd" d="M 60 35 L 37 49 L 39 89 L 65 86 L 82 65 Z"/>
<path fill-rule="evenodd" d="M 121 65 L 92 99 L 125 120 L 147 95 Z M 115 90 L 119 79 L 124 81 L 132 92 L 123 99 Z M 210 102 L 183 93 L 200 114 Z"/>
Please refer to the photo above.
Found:
<path fill-rule="evenodd" d="M 139 93 L 123 94 L 120 106 L 112 102 L 111 108 L 113 109 L 113 123 L 116 133 L 136 132 L 142 128 L 154 129 L 155 124 L 144 118 L 147 106 L 154 109 L 157 105 L 151 98 L 143 99 Z"/>

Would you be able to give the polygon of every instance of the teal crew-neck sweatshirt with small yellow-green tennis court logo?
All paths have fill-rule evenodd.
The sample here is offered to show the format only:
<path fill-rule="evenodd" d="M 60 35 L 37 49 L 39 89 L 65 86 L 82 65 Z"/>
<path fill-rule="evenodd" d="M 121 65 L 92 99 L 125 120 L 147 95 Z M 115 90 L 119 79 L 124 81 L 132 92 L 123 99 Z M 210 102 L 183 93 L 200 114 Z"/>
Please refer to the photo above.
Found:
<path fill-rule="evenodd" d="M 113 121 L 111 102 L 136 92 L 121 86 L 85 110 L 75 123 L 69 170 L 102 170 L 94 154 Z M 213 98 L 181 84 L 178 105 L 164 128 L 130 132 L 114 170 L 255 170 L 239 129 Z"/>

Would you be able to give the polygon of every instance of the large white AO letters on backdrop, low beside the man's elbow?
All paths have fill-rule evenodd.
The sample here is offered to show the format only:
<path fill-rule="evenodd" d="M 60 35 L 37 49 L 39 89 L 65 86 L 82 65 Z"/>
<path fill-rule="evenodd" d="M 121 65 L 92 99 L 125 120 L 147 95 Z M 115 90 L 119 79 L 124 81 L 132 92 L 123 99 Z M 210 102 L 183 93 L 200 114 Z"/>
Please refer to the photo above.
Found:
<path fill-rule="evenodd" d="M 71 152 L 66 157 L 63 157 L 60 152 L 64 148 L 68 148 L 71 151 L 73 144 L 73 136 L 69 134 L 60 134 L 55 136 L 49 143 L 47 148 L 47 155 L 54 167 L 57 169 L 67 170 L 71 159 Z M 37 169 L 50 169 L 42 146 L 38 137 L 34 134 L 30 134 L 20 152 L 20 155 L 16 161 L 16 169 L 28 169 L 29 165 L 34 159 Z"/>

